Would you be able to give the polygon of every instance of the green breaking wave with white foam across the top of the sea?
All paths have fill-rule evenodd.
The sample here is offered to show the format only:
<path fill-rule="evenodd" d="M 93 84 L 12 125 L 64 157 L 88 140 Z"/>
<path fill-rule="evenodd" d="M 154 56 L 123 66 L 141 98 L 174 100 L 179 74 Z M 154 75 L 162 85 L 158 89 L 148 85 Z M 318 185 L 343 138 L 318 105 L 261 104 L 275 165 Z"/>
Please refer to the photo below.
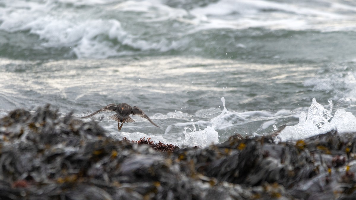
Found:
<path fill-rule="evenodd" d="M 178 54 L 295 60 L 269 48 L 269 38 L 299 43 L 290 35 L 310 33 L 316 35 L 308 36 L 307 43 L 321 46 L 325 41 L 316 38 L 339 31 L 345 32 L 340 38 L 352 40 L 347 31 L 356 30 L 355 10 L 351 2 L 336 1 L 4 0 L 0 51 L 26 59 Z"/>

